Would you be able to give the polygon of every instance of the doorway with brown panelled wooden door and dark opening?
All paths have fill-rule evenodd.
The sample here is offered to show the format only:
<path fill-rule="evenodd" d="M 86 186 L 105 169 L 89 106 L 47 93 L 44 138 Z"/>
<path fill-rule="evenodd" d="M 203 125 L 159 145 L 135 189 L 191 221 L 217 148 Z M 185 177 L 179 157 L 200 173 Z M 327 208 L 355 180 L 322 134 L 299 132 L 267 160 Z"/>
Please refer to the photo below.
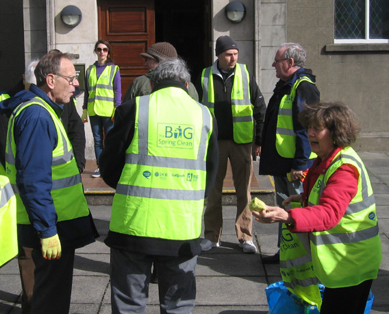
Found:
<path fill-rule="evenodd" d="M 108 40 L 121 69 L 122 93 L 147 73 L 139 56 L 166 41 L 190 68 L 192 82 L 212 62 L 210 0 L 99 0 L 99 38 Z"/>

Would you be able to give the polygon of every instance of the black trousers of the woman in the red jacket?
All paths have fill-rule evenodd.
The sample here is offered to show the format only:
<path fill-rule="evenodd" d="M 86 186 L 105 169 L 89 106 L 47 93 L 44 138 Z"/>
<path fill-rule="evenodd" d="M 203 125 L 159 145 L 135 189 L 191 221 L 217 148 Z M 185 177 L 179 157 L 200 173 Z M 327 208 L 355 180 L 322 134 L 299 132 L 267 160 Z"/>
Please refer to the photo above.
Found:
<path fill-rule="evenodd" d="M 321 314 L 363 314 L 372 280 L 344 288 L 325 288 Z"/>

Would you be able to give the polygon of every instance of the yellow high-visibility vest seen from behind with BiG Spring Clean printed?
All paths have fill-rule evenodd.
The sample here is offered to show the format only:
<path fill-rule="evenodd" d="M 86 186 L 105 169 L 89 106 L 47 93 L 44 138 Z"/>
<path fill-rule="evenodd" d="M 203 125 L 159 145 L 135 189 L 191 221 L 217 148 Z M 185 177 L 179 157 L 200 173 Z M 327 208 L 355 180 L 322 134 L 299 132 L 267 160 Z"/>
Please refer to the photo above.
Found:
<path fill-rule="evenodd" d="M 111 231 L 199 238 L 212 128 L 208 108 L 181 88 L 136 97 L 134 138 L 116 186 Z"/>

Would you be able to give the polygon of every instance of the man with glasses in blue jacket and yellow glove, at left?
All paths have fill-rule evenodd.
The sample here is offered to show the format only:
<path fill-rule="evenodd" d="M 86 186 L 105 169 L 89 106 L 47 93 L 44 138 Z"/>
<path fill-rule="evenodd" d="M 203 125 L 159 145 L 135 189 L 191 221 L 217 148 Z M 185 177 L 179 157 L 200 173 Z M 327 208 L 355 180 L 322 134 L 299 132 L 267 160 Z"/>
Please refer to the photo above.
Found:
<path fill-rule="evenodd" d="M 18 245 L 31 248 L 34 260 L 33 269 L 23 270 L 34 278 L 31 309 L 23 313 L 67 314 L 75 249 L 97 236 L 60 121 L 62 104 L 79 83 L 64 53 L 43 56 L 34 72 L 36 85 L 0 103 L 0 112 L 12 112 L 5 172 L 16 196 Z"/>

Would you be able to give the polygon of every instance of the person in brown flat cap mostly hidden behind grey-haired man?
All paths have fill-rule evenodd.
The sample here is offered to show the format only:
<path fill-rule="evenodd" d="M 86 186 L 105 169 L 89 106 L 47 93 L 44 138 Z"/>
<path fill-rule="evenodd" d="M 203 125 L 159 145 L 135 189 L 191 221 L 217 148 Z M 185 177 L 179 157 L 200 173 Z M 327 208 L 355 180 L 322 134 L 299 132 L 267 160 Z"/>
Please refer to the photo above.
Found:
<path fill-rule="evenodd" d="M 123 102 L 129 99 L 134 99 L 137 96 L 150 95 L 151 73 L 153 73 L 153 70 L 162 60 L 177 58 L 177 51 L 175 50 L 175 47 L 169 43 L 155 43 L 154 45 L 151 45 L 146 52 L 140 53 L 140 56 L 145 59 L 145 67 L 147 67 L 149 72 L 146 75 L 136 77 L 136 79 L 129 85 L 123 98 Z M 197 90 L 191 82 L 189 82 L 188 93 L 192 99 L 199 101 Z"/>

